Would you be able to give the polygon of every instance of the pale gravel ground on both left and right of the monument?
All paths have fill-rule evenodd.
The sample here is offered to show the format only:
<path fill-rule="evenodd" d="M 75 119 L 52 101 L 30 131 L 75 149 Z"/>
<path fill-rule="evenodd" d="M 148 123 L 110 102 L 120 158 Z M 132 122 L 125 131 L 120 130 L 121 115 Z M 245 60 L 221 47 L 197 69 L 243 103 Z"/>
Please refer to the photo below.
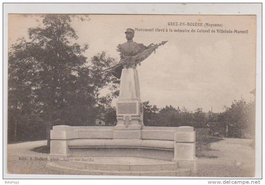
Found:
<path fill-rule="evenodd" d="M 211 144 L 211 151 L 205 151 L 205 156 L 216 158 L 199 158 L 198 174 L 206 177 L 251 177 L 254 176 L 255 150 L 249 145 L 252 140 L 223 138 Z M 31 151 L 34 147 L 43 146 L 44 141 L 31 141 L 7 145 L 8 172 L 11 174 L 67 174 L 46 168 L 46 161 L 30 161 L 31 158 L 46 158 L 47 154 Z M 19 160 L 26 157 L 28 160 Z"/>

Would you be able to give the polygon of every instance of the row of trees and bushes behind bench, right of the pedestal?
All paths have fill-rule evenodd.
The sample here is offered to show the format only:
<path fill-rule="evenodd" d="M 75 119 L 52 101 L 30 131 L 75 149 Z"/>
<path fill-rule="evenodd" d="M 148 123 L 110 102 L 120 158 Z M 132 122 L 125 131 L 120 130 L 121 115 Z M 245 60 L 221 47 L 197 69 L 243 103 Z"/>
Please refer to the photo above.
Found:
<path fill-rule="evenodd" d="M 228 137 L 241 137 L 243 131 L 255 135 L 255 102 L 247 103 L 245 99 L 234 100 L 230 107 L 224 106 L 222 113 L 207 114 L 202 108 L 188 111 L 185 107 L 180 109 L 165 106 L 158 109 L 156 105 L 144 102 L 144 124 L 147 126 L 192 126 L 194 128 L 211 127 L 225 132 L 228 126 Z"/>

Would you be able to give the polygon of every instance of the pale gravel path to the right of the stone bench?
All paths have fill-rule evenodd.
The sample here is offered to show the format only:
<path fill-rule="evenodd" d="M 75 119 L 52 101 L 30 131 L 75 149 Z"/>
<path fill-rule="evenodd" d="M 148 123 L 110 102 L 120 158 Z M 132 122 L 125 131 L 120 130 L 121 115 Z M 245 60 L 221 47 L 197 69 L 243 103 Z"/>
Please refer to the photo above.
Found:
<path fill-rule="evenodd" d="M 211 151 L 204 152 L 209 157 L 198 159 L 196 176 L 253 177 L 255 150 L 250 147 L 251 142 L 251 139 L 223 138 L 211 143 Z"/>

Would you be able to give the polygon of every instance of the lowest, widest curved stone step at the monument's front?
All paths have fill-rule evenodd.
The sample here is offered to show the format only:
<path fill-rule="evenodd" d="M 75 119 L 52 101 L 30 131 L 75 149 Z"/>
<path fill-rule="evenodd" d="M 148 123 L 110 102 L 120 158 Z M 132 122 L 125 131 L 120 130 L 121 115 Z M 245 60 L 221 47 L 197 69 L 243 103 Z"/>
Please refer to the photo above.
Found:
<path fill-rule="evenodd" d="M 118 171 L 81 169 L 72 166 L 62 165 L 56 162 L 46 164 L 47 168 L 71 175 L 116 175 L 116 176 L 189 176 L 190 169 L 178 168 L 175 170 L 143 170 L 143 171 Z"/>

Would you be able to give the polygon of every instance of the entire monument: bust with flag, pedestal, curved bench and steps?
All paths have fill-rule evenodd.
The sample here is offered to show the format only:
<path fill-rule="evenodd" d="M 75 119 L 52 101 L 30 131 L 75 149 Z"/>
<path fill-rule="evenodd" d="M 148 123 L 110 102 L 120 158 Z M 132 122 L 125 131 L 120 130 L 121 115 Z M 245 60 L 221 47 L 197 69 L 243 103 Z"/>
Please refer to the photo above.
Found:
<path fill-rule="evenodd" d="M 166 42 L 144 46 L 132 41 L 134 30 L 128 28 L 125 34 L 128 42 L 118 45 L 121 60 L 107 69 L 121 79 L 116 102 L 117 124 L 104 128 L 53 126 L 49 161 L 57 159 L 58 162 L 49 162 L 47 167 L 78 175 L 188 176 L 190 172 L 196 173 L 193 127 L 145 127 L 143 123 L 136 66 Z M 96 160 L 87 162 L 91 157 Z"/>

